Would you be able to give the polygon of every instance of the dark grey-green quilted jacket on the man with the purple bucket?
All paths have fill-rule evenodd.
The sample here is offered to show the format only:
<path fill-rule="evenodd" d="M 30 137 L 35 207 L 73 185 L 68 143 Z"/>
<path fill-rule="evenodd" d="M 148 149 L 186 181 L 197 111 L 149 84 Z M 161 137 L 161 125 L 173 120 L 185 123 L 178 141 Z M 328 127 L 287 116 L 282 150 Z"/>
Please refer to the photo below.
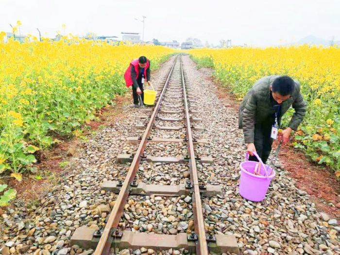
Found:
<path fill-rule="evenodd" d="M 238 110 L 238 127 L 243 129 L 245 143 L 254 143 L 254 125 L 264 122 L 274 115 L 271 104 L 272 82 L 279 76 L 266 76 L 259 79 L 244 97 Z M 290 106 L 295 110 L 289 127 L 296 130 L 304 119 L 307 104 L 300 92 L 300 84 L 294 80 L 295 89 L 291 97 L 281 104 L 281 117 L 287 112 Z"/>

